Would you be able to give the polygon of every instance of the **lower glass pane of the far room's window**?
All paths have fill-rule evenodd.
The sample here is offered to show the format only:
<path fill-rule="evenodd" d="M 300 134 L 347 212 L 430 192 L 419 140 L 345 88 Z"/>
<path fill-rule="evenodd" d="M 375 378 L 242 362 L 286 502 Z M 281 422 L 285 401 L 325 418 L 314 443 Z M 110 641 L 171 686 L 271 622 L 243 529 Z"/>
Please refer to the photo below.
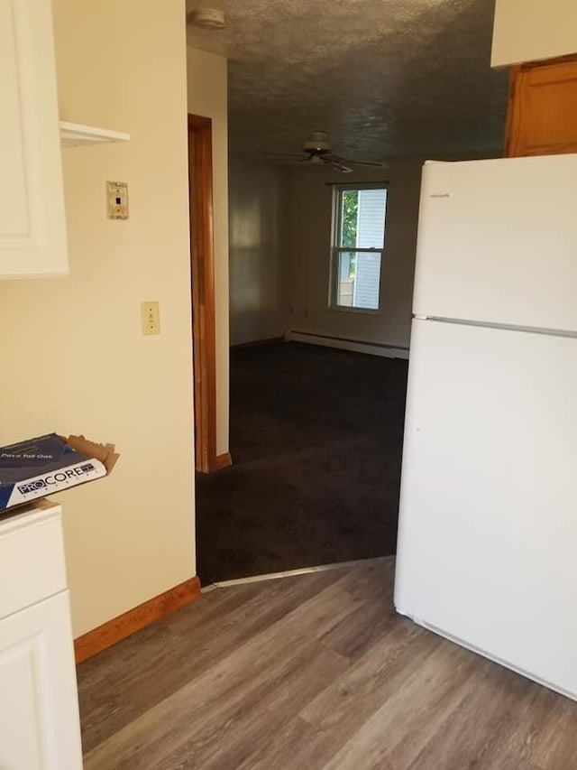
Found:
<path fill-rule="evenodd" d="M 336 304 L 342 308 L 379 310 L 380 252 L 337 253 Z"/>

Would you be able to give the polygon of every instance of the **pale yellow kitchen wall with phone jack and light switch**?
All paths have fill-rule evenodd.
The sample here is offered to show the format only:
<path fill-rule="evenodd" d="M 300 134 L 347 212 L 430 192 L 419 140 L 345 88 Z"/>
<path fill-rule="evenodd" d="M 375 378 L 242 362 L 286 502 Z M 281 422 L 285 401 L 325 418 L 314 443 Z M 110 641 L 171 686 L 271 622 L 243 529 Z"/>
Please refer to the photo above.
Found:
<path fill-rule="evenodd" d="M 132 135 L 63 153 L 69 277 L 0 283 L 0 441 L 81 431 L 122 453 L 54 497 L 79 635 L 195 574 L 185 14 L 53 6 L 61 117 Z M 128 221 L 106 218 L 106 180 L 128 182 Z"/>

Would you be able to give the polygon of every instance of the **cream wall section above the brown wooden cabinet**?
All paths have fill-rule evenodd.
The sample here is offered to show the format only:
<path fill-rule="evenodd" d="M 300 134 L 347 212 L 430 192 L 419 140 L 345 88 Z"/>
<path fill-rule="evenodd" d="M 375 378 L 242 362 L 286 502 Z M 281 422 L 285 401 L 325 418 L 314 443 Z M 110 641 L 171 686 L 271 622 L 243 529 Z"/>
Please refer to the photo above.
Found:
<path fill-rule="evenodd" d="M 491 66 L 577 53 L 575 0 L 497 0 Z"/>

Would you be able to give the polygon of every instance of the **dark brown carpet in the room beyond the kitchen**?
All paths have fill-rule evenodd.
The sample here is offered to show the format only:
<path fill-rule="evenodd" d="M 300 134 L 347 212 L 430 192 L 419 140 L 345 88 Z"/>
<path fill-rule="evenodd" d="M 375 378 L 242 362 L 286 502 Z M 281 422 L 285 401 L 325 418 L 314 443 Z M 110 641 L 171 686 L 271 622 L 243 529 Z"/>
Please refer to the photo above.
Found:
<path fill-rule="evenodd" d="M 231 351 L 234 465 L 197 474 L 203 585 L 394 553 L 407 361 Z"/>

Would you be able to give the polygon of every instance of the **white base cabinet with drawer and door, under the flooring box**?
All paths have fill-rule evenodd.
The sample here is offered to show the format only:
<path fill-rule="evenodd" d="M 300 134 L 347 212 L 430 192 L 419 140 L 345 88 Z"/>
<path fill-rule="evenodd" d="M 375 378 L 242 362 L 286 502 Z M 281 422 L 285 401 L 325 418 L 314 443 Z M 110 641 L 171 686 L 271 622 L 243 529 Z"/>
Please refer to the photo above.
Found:
<path fill-rule="evenodd" d="M 81 770 L 60 506 L 0 521 L 0 767 Z"/>

